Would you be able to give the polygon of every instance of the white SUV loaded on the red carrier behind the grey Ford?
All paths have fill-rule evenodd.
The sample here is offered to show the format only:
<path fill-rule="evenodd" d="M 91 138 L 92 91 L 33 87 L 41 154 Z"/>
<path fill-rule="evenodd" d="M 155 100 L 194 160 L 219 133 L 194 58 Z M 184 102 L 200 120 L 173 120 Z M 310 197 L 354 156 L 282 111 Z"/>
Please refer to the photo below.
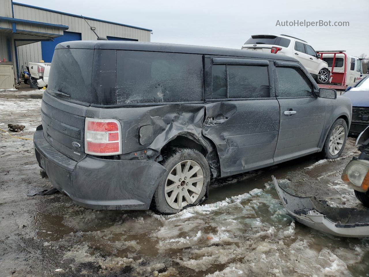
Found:
<path fill-rule="evenodd" d="M 252 35 L 241 47 L 243 50 L 262 51 L 286 55 L 298 59 L 313 78 L 320 84 L 330 81 L 327 62 L 320 59 L 306 41 L 289 35 Z"/>

